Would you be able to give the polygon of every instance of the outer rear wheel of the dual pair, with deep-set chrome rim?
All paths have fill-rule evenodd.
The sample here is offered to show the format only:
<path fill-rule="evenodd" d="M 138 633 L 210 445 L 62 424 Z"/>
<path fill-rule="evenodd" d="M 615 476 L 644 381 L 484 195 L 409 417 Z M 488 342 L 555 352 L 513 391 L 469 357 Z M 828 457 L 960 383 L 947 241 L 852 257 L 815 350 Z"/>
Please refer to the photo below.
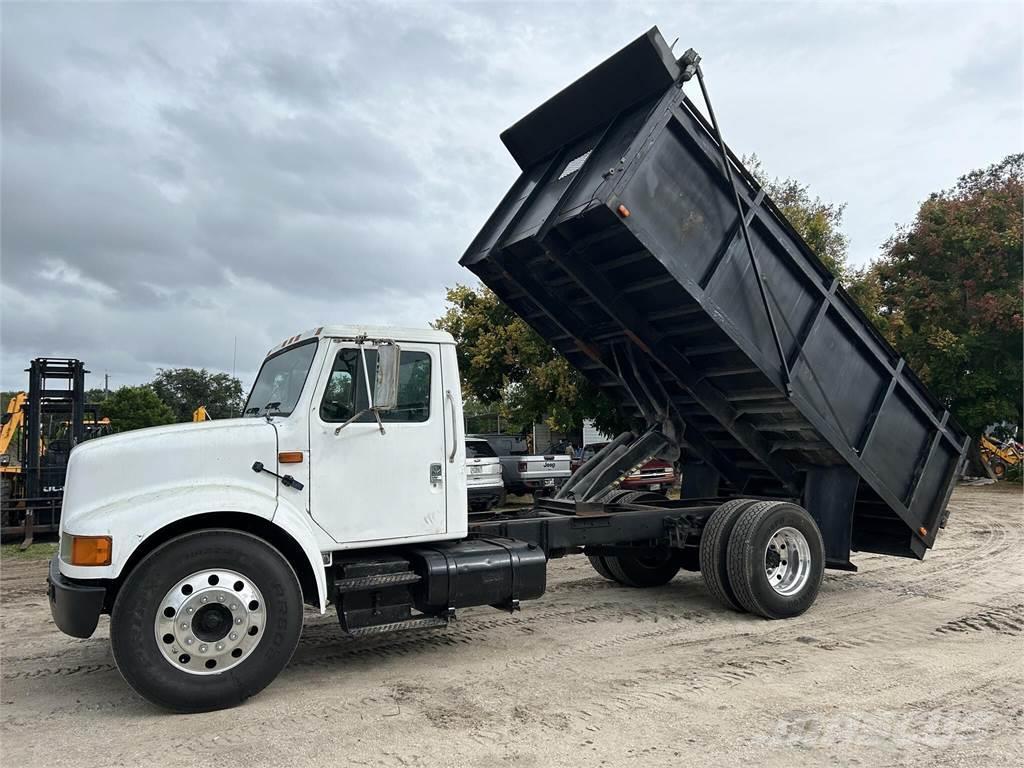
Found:
<path fill-rule="evenodd" d="M 825 548 L 814 518 L 790 502 L 748 508 L 729 537 L 729 584 L 739 604 L 765 618 L 811 607 L 824 575 Z"/>

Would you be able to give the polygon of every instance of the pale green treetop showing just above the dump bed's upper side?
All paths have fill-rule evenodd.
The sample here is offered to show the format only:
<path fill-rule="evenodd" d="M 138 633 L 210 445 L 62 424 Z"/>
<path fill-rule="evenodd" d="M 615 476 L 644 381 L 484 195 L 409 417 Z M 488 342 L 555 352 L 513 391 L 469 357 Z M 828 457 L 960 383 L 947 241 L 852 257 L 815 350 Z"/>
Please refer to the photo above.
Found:
<path fill-rule="evenodd" d="M 844 284 L 855 276 L 847 263 L 849 240 L 843 233 L 846 203 L 825 203 L 794 178 L 769 178 L 757 155 L 742 163 L 814 254 Z"/>

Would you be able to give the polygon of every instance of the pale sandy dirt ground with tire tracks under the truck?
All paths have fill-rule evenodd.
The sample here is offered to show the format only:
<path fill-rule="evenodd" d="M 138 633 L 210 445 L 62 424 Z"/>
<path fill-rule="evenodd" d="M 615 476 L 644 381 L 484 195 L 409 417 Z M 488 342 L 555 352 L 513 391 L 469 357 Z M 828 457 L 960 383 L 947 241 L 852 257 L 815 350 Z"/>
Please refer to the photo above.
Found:
<path fill-rule="evenodd" d="M 1020 488 L 961 487 L 924 562 L 855 556 L 805 615 L 631 590 L 584 558 L 508 615 L 362 640 L 310 613 L 245 706 L 164 714 L 106 639 L 50 623 L 45 563 L 2 564 L 4 766 L 1024 765 Z"/>

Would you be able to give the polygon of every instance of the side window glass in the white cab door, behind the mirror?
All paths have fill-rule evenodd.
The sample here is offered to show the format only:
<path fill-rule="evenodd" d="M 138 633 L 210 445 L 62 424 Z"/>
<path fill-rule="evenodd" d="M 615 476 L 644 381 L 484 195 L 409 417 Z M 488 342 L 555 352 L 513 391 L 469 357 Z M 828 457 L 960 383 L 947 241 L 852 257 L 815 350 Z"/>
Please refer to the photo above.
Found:
<path fill-rule="evenodd" d="M 367 367 L 370 386 L 375 385 L 377 376 L 377 350 L 367 349 Z M 398 402 L 393 411 L 381 414 L 381 421 L 424 422 L 430 418 L 430 355 L 426 352 L 403 351 L 398 364 Z M 369 404 L 366 376 L 362 373 L 362 355 L 358 349 L 338 350 L 324 399 L 321 402 L 321 419 L 329 422 L 347 421 Z M 376 422 L 372 413 L 367 413 L 356 422 Z"/>

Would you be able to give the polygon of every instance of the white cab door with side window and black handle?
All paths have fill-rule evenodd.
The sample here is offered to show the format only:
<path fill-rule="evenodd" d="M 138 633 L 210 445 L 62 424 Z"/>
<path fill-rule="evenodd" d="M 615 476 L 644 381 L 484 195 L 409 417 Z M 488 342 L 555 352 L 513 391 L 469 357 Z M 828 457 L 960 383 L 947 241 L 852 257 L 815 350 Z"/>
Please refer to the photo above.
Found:
<path fill-rule="evenodd" d="M 443 538 L 440 347 L 402 343 L 397 407 L 346 424 L 368 408 L 376 366 L 372 343 L 331 346 L 310 403 L 310 514 L 343 545 Z"/>

